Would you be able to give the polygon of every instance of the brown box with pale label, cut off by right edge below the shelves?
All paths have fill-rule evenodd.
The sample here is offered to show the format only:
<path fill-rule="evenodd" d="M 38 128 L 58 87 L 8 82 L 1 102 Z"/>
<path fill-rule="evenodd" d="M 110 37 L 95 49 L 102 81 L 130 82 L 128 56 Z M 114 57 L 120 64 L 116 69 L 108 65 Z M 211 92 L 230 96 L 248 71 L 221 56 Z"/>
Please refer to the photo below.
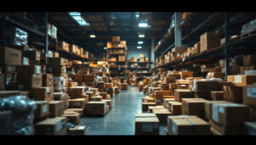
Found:
<path fill-rule="evenodd" d="M 243 86 L 242 103 L 256 107 L 256 85 Z"/>

